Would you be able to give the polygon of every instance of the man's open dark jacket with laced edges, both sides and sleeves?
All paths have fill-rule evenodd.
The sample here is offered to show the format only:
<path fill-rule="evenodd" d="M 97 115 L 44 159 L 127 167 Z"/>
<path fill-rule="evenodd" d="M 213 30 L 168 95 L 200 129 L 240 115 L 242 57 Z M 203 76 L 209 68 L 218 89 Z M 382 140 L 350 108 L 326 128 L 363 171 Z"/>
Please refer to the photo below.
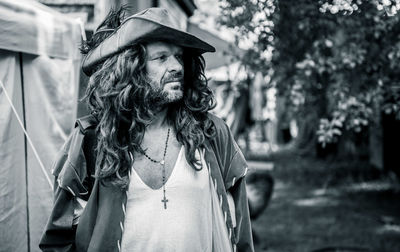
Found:
<path fill-rule="evenodd" d="M 254 251 L 245 188 L 246 161 L 225 122 L 212 114 L 209 117 L 217 135 L 205 141 L 204 156 L 232 247 L 234 251 Z M 93 116 L 78 119 L 55 162 L 55 201 L 39 245 L 43 251 L 120 251 L 127 194 L 94 178 L 96 125 Z M 228 191 L 235 203 L 235 227 Z M 75 197 L 87 201 L 77 226 L 73 225 Z"/>

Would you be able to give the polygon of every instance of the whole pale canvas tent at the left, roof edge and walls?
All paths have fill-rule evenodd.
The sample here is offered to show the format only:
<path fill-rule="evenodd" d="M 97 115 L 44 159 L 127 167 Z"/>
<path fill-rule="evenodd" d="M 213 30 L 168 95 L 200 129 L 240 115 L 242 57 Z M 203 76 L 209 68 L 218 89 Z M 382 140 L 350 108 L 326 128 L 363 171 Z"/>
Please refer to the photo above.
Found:
<path fill-rule="evenodd" d="M 35 1 L 0 0 L 0 251 L 39 251 L 53 201 L 45 174 L 76 117 L 80 34 Z"/>

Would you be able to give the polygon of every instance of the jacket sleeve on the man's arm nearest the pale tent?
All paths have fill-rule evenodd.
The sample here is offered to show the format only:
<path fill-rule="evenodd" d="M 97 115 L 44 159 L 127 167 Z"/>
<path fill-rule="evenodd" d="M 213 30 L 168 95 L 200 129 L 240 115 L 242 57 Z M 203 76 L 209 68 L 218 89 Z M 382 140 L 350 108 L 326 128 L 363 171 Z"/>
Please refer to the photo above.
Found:
<path fill-rule="evenodd" d="M 87 200 L 89 194 L 83 136 L 75 128 L 53 166 L 54 205 L 39 243 L 42 251 L 75 251 L 74 202 L 76 197 Z"/>

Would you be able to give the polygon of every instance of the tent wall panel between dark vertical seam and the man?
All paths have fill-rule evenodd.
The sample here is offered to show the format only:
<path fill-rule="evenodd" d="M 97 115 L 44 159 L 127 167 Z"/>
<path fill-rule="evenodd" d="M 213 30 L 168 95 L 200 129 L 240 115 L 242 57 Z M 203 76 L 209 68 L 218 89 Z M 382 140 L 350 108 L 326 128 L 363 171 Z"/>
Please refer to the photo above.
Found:
<path fill-rule="evenodd" d="M 52 163 L 76 117 L 79 62 L 27 54 L 22 58 L 26 128 L 47 174 L 53 178 Z M 27 148 L 27 154 L 31 246 L 37 247 L 50 215 L 53 193 L 31 148 Z"/>

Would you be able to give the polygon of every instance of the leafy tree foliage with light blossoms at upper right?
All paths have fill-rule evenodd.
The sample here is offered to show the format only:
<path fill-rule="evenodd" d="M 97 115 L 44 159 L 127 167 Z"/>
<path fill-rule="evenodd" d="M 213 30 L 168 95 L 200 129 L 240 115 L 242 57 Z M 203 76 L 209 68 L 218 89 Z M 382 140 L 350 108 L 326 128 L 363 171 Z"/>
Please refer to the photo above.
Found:
<path fill-rule="evenodd" d="M 323 145 L 379 123 L 382 111 L 400 119 L 400 1 L 221 2 L 221 24 L 253 43 L 244 64 L 273 70 L 288 112 L 320 119 Z"/>

